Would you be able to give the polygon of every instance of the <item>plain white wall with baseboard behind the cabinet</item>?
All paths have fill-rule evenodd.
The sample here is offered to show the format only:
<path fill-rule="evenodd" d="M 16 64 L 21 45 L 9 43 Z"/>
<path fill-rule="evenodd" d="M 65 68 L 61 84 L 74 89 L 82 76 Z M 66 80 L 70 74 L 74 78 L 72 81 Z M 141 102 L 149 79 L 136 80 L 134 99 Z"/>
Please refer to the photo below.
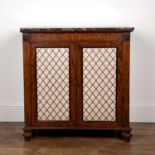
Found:
<path fill-rule="evenodd" d="M 0 121 L 23 121 L 20 27 L 133 26 L 131 121 L 155 121 L 155 0 L 0 0 Z"/>

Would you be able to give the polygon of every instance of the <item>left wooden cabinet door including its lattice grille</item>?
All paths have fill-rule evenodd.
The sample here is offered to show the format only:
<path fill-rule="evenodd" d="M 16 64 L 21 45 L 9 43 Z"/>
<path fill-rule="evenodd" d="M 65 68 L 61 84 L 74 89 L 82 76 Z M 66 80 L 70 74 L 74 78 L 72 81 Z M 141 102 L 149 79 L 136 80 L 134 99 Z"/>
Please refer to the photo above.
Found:
<path fill-rule="evenodd" d="M 31 44 L 32 126 L 74 124 L 75 69 L 72 43 Z"/>

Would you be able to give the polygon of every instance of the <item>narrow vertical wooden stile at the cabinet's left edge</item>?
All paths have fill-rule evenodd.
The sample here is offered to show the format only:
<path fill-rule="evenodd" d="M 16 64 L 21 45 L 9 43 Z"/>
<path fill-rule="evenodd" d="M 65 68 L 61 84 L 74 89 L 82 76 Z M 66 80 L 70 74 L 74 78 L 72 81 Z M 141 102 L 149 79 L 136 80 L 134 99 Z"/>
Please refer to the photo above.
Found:
<path fill-rule="evenodd" d="M 30 43 L 23 41 L 23 63 L 24 63 L 24 114 L 25 126 L 31 126 L 31 53 Z"/>

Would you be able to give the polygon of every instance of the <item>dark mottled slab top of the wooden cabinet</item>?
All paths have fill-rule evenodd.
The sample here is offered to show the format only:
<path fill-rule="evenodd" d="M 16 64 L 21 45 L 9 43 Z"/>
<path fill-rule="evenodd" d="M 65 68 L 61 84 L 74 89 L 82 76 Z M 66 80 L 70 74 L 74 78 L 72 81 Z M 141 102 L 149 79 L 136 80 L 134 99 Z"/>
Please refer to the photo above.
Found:
<path fill-rule="evenodd" d="M 134 27 L 104 27 L 104 28 L 20 28 L 22 33 L 74 33 L 74 32 L 100 32 L 122 33 L 132 32 Z"/>

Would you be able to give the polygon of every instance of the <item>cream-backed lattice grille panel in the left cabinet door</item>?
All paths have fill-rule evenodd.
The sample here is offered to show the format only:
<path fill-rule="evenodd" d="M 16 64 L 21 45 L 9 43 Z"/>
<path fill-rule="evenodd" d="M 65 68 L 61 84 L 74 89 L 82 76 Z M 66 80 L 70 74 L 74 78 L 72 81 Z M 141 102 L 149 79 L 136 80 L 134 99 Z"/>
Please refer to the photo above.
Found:
<path fill-rule="evenodd" d="M 38 121 L 69 120 L 69 48 L 36 48 Z"/>

